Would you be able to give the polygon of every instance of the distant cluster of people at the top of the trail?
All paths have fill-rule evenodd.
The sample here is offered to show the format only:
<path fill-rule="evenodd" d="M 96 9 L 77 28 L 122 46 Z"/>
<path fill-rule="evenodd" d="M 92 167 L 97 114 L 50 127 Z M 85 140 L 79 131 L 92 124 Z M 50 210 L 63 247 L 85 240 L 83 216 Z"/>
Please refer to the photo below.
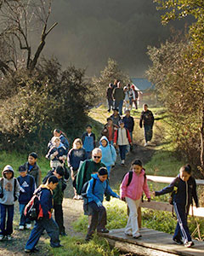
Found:
<path fill-rule="evenodd" d="M 108 101 L 108 112 L 111 109 L 118 109 L 119 114 L 122 115 L 122 107 L 125 105 L 125 110 L 131 110 L 133 104 L 135 109 L 138 109 L 139 92 L 135 89 L 134 84 L 127 84 L 122 88 L 122 82 L 115 80 L 114 83 L 110 83 L 106 90 L 106 98 Z"/>

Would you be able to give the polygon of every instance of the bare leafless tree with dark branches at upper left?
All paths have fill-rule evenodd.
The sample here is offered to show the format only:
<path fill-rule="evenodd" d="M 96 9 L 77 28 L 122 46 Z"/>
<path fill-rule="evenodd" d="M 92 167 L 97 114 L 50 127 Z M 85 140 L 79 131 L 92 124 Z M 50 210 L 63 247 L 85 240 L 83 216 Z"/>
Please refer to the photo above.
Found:
<path fill-rule="evenodd" d="M 45 45 L 48 33 L 57 25 L 48 28 L 51 14 L 51 0 L 1 0 L 0 15 L 0 70 L 4 76 L 22 67 L 32 72 Z M 31 33 L 36 28 L 42 29 L 40 43 L 32 52 Z"/>

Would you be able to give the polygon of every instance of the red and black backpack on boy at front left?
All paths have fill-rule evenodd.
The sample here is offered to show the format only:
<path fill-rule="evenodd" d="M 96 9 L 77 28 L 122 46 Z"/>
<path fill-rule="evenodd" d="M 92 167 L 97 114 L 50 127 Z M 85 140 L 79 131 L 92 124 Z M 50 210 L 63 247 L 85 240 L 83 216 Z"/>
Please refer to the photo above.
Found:
<path fill-rule="evenodd" d="M 40 193 L 42 189 L 38 189 L 38 191 L 32 196 L 31 200 L 27 203 L 24 215 L 26 218 L 30 220 L 37 220 L 38 215 L 40 213 L 41 205 L 40 205 Z"/>

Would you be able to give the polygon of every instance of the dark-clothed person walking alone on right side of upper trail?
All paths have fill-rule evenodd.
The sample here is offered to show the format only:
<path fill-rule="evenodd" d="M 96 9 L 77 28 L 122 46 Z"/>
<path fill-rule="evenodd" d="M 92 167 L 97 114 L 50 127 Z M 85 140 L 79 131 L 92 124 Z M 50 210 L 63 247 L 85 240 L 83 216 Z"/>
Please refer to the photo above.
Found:
<path fill-rule="evenodd" d="M 139 126 L 142 128 L 144 125 L 144 147 L 148 145 L 148 143 L 151 141 L 152 135 L 153 135 L 153 125 L 154 125 L 154 115 L 153 113 L 148 109 L 148 105 L 143 105 L 143 112 L 140 116 Z"/>

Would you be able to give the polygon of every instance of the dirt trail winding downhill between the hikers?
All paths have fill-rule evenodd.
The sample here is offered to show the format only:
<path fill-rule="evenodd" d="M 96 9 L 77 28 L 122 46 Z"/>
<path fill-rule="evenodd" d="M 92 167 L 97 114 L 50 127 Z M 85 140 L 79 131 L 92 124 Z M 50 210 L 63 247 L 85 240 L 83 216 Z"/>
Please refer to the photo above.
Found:
<path fill-rule="evenodd" d="M 139 127 L 139 120 L 135 119 L 136 127 Z M 160 129 L 159 122 L 156 122 L 156 133 L 154 134 L 152 143 L 150 146 L 144 147 L 144 135 L 143 130 L 139 128 L 134 132 L 133 137 L 135 138 L 134 143 L 137 145 L 133 147 L 133 152 L 127 154 L 127 159 L 125 166 L 120 165 L 119 157 L 116 160 L 116 166 L 111 171 L 111 187 L 116 187 L 118 183 L 121 182 L 122 177 L 125 172 L 130 168 L 131 162 L 134 159 L 142 160 L 145 164 L 151 158 L 155 152 L 156 145 L 161 143 L 162 131 Z M 67 188 L 65 190 L 65 200 L 63 203 L 64 217 L 65 217 L 65 230 L 68 235 L 71 236 L 82 236 L 80 233 L 76 233 L 73 230 L 71 224 L 79 218 L 82 214 L 82 201 L 74 201 L 71 198 L 73 197 L 73 189 L 71 185 L 71 180 L 68 182 Z M 1 241 L 0 242 L 0 256 L 22 256 L 27 255 L 24 253 L 24 247 L 26 245 L 26 240 L 30 235 L 30 230 L 19 231 L 18 222 L 19 222 L 19 213 L 18 205 L 15 205 L 15 214 L 14 214 L 14 239 L 12 241 Z M 40 248 L 40 253 L 37 253 L 37 256 L 48 255 L 48 248 L 45 247 L 44 241 L 48 239 L 48 235 L 45 234 L 41 237 L 37 247 Z"/>

